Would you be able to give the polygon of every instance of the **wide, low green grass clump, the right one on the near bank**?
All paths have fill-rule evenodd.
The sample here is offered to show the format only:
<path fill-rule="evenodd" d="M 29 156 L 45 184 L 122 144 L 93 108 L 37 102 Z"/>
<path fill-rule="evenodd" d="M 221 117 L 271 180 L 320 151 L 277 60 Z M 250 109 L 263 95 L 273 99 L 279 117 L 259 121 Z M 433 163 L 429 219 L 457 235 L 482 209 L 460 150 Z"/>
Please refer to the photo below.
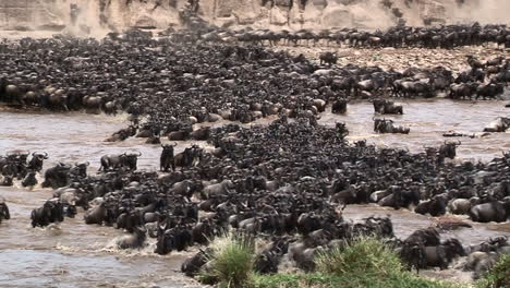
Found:
<path fill-rule="evenodd" d="M 331 250 L 319 252 L 315 262 L 318 272 L 338 276 L 371 274 L 385 277 L 403 271 L 397 253 L 373 237 L 360 237 Z"/>

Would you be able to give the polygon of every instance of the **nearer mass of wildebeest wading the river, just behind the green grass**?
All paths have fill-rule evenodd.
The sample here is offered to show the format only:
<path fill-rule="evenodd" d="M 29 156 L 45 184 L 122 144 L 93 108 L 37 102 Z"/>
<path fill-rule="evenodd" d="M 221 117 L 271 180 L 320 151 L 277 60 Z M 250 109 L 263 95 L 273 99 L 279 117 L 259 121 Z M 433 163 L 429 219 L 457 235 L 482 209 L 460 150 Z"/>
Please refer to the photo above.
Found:
<path fill-rule="evenodd" d="M 454 239 L 441 242 L 435 228 L 399 240 L 390 219 L 352 223 L 343 219 L 342 211 L 350 204 L 377 203 L 432 216 L 449 212 L 474 221 L 506 221 L 510 154 L 487 164 L 453 164 L 437 158 L 453 158 L 456 143 L 411 154 L 363 141 L 349 144 L 347 134 L 342 124 L 326 128 L 309 118 L 283 117 L 268 127 L 212 129 L 208 141 L 214 149 L 192 145 L 173 154 L 168 151 L 173 146 L 167 145 L 159 165 L 172 169 L 170 173 L 137 170 L 139 154 L 104 156 L 97 173 L 87 173 L 88 163 L 58 164 L 44 173 L 53 197 L 34 209 L 32 224 L 47 226 L 83 209 L 86 224 L 129 232 L 119 240 L 120 248 L 141 248 L 150 237 L 159 254 L 207 244 L 222 231 L 238 229 L 272 243 L 260 252 L 262 273 L 277 272 L 282 259 L 312 271 L 317 251 L 359 235 L 388 238 L 418 269 L 446 268 L 456 256 L 470 254 L 466 268 L 478 275 L 508 250 L 506 239 L 472 248 Z M 26 156 L 16 153 L 1 159 L 27 166 Z M 154 160 L 156 166 L 158 159 Z M 205 264 L 195 265 L 203 259 L 201 253 L 183 265 L 189 275 Z"/>

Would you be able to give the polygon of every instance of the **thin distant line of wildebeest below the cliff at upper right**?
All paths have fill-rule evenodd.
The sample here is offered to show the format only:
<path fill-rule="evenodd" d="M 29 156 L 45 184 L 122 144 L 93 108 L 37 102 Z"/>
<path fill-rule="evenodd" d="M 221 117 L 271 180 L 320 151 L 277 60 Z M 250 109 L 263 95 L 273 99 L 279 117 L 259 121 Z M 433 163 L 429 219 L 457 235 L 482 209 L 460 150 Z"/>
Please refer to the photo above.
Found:
<path fill-rule="evenodd" d="M 233 35 L 232 35 L 233 34 Z M 510 47 L 510 29 L 506 25 L 447 25 L 434 27 L 394 26 L 386 31 L 367 32 L 357 28 L 337 28 L 296 32 L 244 28 L 232 35 L 241 43 L 293 46 L 347 46 L 353 48 L 444 48 L 495 44 Z"/>

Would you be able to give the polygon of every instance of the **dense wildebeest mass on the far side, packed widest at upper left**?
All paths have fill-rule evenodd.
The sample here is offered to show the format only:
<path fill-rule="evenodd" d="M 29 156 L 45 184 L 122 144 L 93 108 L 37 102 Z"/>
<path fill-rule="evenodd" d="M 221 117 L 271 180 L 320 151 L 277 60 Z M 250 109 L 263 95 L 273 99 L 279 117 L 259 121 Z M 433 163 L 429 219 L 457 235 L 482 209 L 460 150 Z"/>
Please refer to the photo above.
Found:
<path fill-rule="evenodd" d="M 110 141 L 133 136 L 141 129 L 157 143 L 155 137 L 172 132 L 171 140 L 191 137 L 196 122 L 248 123 L 270 115 L 317 117 L 329 104 L 341 108 L 356 98 L 495 99 L 510 80 L 510 61 L 503 57 L 482 62 L 469 56 L 471 68 L 453 75 L 442 67 L 398 72 L 321 65 L 256 46 L 186 46 L 179 41 L 185 37 L 154 39 L 141 31 L 121 36 L 1 44 L 5 64 L 0 68 L 0 101 L 60 111 L 125 111 L 133 125 Z M 331 64 L 335 57 L 328 52 L 323 60 Z M 139 116 L 148 118 L 141 123 Z"/>

